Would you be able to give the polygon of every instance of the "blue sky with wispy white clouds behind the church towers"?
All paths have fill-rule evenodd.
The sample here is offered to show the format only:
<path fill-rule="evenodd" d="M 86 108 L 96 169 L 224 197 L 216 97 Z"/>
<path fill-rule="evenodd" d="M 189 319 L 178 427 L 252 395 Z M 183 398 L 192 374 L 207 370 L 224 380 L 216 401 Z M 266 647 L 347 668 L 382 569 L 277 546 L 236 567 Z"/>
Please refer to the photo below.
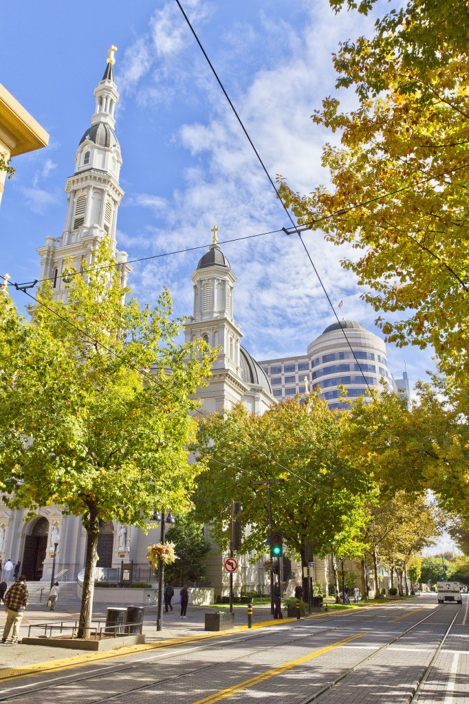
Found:
<path fill-rule="evenodd" d="M 310 119 L 335 92 L 331 54 L 370 34 L 373 18 L 334 15 L 325 0 L 184 0 L 202 44 L 263 161 L 303 193 L 327 183 L 321 149 L 331 135 Z M 36 249 L 64 225 L 63 187 L 94 111 L 93 91 L 115 44 L 120 92 L 116 133 L 123 155 L 118 247 L 135 259 L 288 226 L 282 206 L 215 83 L 175 0 L 61 4 L 24 0 L 2 8 L 1 82 L 50 133 L 49 147 L 15 159 L 0 207 L 1 273 L 37 277 Z M 342 99 L 353 104 L 353 95 Z M 304 239 L 340 314 L 374 330 L 339 261 L 348 250 Z M 306 352 L 334 321 L 296 237 L 270 234 L 221 244 L 238 277 L 235 318 L 258 359 Z M 178 315 L 192 313 L 192 282 L 204 249 L 135 265 L 141 303 L 170 288 Z M 18 305 L 23 305 L 21 294 Z M 339 311 L 337 311 L 339 313 Z M 378 331 L 375 331 L 378 332 Z M 380 334 L 378 332 L 378 334 Z M 432 366 L 430 351 L 388 346 L 389 368 L 411 384 Z"/>

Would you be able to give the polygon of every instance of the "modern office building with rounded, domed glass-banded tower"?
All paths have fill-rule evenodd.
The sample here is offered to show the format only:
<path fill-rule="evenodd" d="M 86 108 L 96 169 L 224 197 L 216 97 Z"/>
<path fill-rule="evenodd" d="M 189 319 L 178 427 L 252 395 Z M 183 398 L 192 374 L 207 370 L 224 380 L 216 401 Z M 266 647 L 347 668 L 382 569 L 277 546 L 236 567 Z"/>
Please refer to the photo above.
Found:
<path fill-rule="evenodd" d="M 407 374 L 394 380 L 387 368 L 384 340 L 354 320 L 334 322 L 311 344 L 306 354 L 260 362 L 277 401 L 320 388 L 330 408 L 344 408 L 342 391 L 354 401 L 368 389 L 402 389 L 410 395 Z"/>

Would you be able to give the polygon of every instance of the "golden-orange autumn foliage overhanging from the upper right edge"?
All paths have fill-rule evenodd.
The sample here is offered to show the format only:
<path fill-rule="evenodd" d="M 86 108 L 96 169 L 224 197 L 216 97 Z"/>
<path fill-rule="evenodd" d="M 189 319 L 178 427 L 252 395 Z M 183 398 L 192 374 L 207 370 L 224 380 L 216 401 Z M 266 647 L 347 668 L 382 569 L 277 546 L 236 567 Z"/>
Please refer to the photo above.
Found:
<path fill-rule="evenodd" d="M 367 13 L 373 0 L 331 0 Z M 465 384 L 469 371 L 467 276 L 469 74 L 465 0 L 414 0 L 393 9 L 370 39 L 341 44 L 337 87 L 315 124 L 339 136 L 326 144 L 330 185 L 308 195 L 283 181 L 280 194 L 301 225 L 334 244 L 398 346 L 430 345 L 442 371 Z M 340 215 L 334 215 L 340 210 Z"/>

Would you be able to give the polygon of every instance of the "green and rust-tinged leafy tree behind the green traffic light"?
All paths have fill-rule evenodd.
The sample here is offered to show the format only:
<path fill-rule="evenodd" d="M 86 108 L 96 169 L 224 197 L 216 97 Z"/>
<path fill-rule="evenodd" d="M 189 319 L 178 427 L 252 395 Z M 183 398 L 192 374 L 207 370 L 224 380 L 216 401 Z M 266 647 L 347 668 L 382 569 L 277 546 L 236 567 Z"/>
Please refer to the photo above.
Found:
<path fill-rule="evenodd" d="M 249 526 L 242 551 L 268 551 L 267 485 L 256 486 L 267 479 L 284 480 L 271 489 L 273 529 L 301 555 L 303 566 L 307 543 L 315 555 L 324 556 L 331 546 L 339 551 L 351 542 L 370 482 L 340 454 L 349 416 L 332 412 L 315 393 L 306 403 L 299 401 L 279 403 L 262 416 L 239 405 L 200 423 L 194 451 L 208 468 L 197 481 L 196 516 L 212 524 L 221 548 L 229 541 L 230 504 L 236 500 Z"/>

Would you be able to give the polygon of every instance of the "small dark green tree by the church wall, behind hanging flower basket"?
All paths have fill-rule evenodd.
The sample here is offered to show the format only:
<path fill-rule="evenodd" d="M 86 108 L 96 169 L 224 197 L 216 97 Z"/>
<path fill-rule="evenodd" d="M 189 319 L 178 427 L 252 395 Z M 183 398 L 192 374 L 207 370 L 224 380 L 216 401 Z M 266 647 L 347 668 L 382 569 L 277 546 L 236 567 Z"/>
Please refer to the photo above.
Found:
<path fill-rule="evenodd" d="M 196 582 L 203 579 L 206 556 L 210 552 L 210 543 L 204 537 L 204 526 L 194 520 L 192 513 L 178 513 L 166 537 L 175 545 L 177 560 L 165 567 L 165 579 L 180 586 L 189 580 Z"/>

